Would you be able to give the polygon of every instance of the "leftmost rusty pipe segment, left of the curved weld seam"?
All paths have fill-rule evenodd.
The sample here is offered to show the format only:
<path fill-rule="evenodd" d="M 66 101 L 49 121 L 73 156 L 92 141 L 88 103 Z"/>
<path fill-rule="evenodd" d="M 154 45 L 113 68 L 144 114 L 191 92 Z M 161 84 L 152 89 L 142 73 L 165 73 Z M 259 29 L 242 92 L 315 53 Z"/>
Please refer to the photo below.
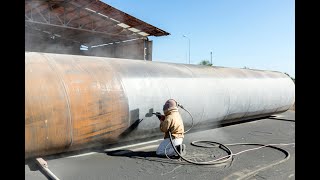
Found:
<path fill-rule="evenodd" d="M 26 54 L 25 63 L 25 156 L 62 151 L 70 115 L 61 81 L 40 54 Z"/>

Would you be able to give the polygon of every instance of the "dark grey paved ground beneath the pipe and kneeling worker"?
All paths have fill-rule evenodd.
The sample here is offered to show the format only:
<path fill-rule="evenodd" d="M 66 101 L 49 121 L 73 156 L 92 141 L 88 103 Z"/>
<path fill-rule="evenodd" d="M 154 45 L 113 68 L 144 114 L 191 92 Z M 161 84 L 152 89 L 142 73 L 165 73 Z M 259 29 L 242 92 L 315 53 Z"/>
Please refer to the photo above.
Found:
<path fill-rule="evenodd" d="M 294 143 L 295 111 L 287 111 L 275 117 L 234 124 L 201 132 L 188 133 L 186 158 L 207 161 L 226 153 L 218 148 L 197 148 L 190 145 L 195 140 L 230 143 Z M 220 166 L 199 166 L 184 161 L 154 156 L 160 140 L 150 143 L 107 149 L 47 160 L 49 169 L 59 179 L 295 179 L 295 145 L 278 146 L 290 153 L 287 161 L 275 164 L 286 155 L 265 147 L 234 156 L 232 163 Z M 258 146 L 230 146 L 233 153 Z M 25 179 L 48 179 L 33 163 L 25 165 Z"/>

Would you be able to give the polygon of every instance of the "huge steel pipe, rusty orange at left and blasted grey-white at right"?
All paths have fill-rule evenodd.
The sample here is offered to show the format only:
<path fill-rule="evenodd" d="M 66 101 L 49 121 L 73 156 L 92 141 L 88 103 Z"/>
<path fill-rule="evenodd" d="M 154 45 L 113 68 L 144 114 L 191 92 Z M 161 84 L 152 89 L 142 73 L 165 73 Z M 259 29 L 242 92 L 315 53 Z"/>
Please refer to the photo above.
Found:
<path fill-rule="evenodd" d="M 161 135 L 152 112 L 170 98 L 197 128 L 284 112 L 295 85 L 274 71 L 26 52 L 25 158 Z"/>

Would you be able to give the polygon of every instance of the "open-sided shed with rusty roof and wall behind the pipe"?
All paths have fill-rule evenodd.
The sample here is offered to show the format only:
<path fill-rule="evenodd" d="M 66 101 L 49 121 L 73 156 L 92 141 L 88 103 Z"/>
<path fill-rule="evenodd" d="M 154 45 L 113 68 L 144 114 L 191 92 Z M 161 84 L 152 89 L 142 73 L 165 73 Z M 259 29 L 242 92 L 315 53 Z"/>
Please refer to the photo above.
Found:
<path fill-rule="evenodd" d="M 98 0 L 25 0 L 25 51 L 152 60 L 166 35 Z"/>

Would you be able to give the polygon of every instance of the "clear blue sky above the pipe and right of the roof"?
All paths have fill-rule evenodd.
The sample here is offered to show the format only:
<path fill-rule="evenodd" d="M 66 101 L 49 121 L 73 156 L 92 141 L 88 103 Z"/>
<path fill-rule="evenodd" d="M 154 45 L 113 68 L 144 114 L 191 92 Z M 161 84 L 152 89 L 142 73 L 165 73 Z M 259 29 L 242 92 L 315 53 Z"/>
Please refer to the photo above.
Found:
<path fill-rule="evenodd" d="M 149 37 L 153 61 L 244 66 L 295 77 L 294 0 L 103 0 L 170 33 Z"/>

